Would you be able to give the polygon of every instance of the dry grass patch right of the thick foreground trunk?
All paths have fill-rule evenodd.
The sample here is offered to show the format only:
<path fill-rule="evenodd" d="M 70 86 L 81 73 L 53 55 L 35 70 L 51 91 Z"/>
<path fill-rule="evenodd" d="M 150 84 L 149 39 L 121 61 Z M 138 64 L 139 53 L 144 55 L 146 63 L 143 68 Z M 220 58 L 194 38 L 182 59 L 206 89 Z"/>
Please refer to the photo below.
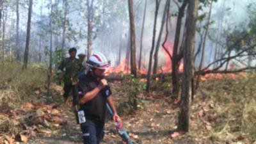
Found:
<path fill-rule="evenodd" d="M 191 134 L 201 143 L 256 140 L 256 75 L 223 77 L 201 83 L 193 104 Z M 198 124 L 202 124 L 200 127 Z M 198 132 L 200 129 L 200 132 Z"/>

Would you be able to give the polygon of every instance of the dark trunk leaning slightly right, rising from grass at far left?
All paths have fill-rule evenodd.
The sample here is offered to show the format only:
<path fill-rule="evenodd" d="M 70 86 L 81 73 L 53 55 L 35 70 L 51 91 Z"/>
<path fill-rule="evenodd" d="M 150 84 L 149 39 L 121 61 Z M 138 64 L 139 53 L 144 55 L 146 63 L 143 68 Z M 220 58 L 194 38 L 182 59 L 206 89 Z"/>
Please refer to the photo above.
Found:
<path fill-rule="evenodd" d="M 27 68 L 28 65 L 28 53 L 29 53 L 29 40 L 30 40 L 30 29 L 31 29 L 31 14 L 32 14 L 32 5 L 33 0 L 29 0 L 29 8 L 28 8 L 28 26 L 27 26 L 27 36 L 26 36 L 26 47 L 24 52 L 24 64 L 23 70 Z"/>

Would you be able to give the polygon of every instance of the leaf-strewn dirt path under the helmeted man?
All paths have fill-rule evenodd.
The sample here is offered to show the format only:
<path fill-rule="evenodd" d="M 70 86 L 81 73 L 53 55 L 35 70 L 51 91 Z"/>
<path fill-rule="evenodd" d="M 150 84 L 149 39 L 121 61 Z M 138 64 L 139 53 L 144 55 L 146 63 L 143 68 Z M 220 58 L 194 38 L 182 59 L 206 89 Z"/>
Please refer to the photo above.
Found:
<path fill-rule="evenodd" d="M 61 97 L 56 99 L 61 101 Z M 60 106 L 63 111 L 61 118 L 67 121 L 66 125 L 56 125 L 56 127 L 46 129 L 35 139 L 29 140 L 28 143 L 83 143 L 80 127 L 75 123 L 74 113 L 68 107 Z M 122 115 L 124 127 L 134 143 L 193 143 L 189 138 L 175 140 L 170 138 L 172 130 L 176 128 L 176 119 L 177 108 L 169 106 L 163 97 L 147 98 L 136 113 Z M 105 135 L 102 141 L 102 144 L 106 143 L 123 143 L 109 118 L 105 125 Z"/>

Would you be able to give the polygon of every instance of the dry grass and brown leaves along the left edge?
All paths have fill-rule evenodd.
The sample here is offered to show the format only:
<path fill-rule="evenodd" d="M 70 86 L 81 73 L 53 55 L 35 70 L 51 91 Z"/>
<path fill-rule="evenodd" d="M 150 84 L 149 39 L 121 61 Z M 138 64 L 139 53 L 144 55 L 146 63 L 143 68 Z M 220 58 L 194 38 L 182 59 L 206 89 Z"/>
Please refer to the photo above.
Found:
<path fill-rule="evenodd" d="M 29 64 L 27 70 L 17 62 L 1 63 L 0 68 L 0 135 L 15 134 L 20 122 L 11 115 L 24 102 L 35 99 L 35 88 L 44 89 L 47 67 Z M 12 112 L 11 112 L 12 111 Z"/>

